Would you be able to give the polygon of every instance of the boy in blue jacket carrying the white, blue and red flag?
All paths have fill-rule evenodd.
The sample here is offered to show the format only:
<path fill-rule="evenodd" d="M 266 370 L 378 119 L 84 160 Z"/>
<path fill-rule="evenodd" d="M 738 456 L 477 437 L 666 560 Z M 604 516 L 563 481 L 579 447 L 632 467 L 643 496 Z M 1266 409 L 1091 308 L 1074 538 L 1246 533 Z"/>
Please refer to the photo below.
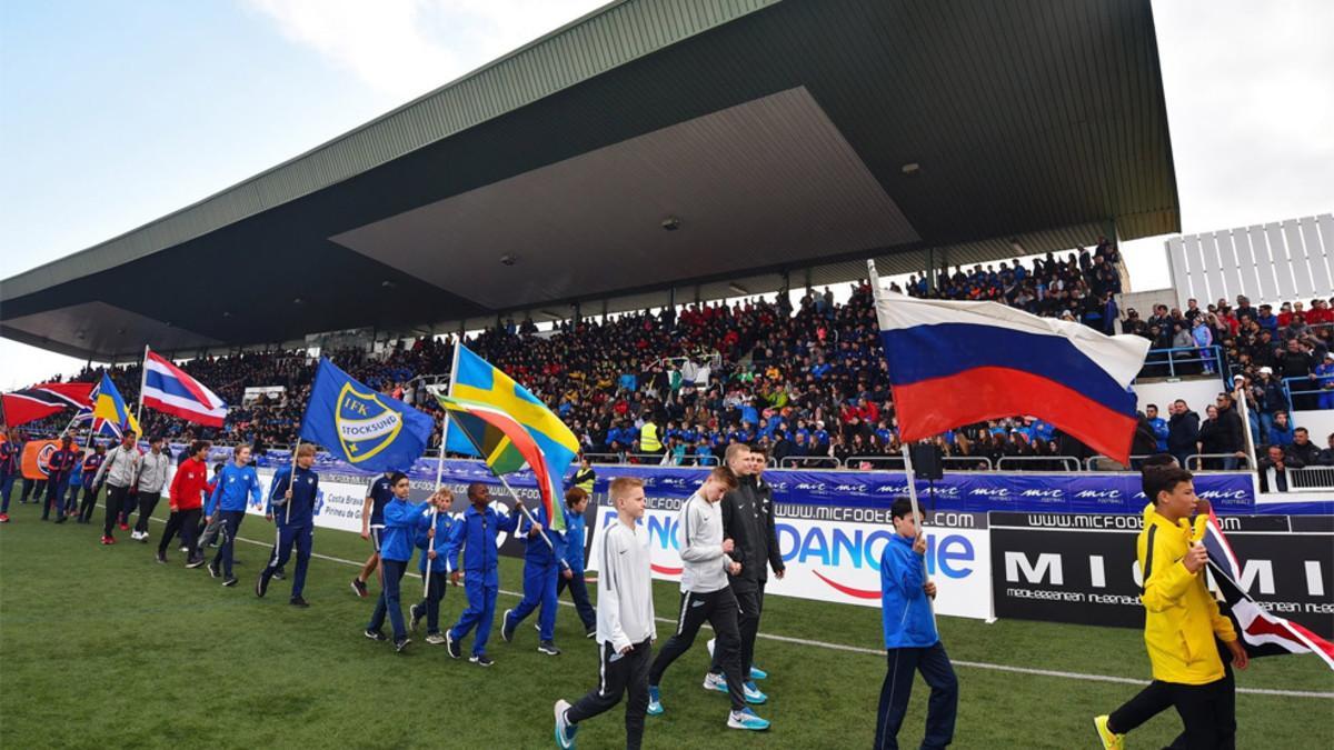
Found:
<path fill-rule="evenodd" d="M 890 666 L 880 687 L 875 747 L 898 749 L 899 726 L 908 709 L 914 671 L 920 671 L 931 686 L 922 747 L 946 747 L 954 739 L 959 681 L 935 630 L 930 602 L 935 598 L 935 583 L 926 579 L 923 559 L 926 534 L 918 534 L 918 519 L 907 498 L 894 500 L 890 515 L 895 534 L 880 555 L 880 617 Z"/>

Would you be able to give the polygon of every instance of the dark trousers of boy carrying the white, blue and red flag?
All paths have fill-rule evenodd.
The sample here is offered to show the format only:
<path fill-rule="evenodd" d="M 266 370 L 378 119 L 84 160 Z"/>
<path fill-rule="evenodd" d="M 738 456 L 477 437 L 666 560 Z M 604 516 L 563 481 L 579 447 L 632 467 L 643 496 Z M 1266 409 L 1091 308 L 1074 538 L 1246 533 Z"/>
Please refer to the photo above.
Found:
<path fill-rule="evenodd" d="M 924 649 L 888 649 L 886 653 L 890 665 L 884 673 L 884 685 L 880 686 L 880 707 L 875 717 L 875 750 L 898 750 L 899 727 L 908 710 L 915 671 L 922 673 L 922 679 L 931 686 L 922 747 L 947 747 L 954 741 L 959 679 L 954 675 L 954 665 L 950 663 L 944 646 L 936 641 L 935 646 Z"/>

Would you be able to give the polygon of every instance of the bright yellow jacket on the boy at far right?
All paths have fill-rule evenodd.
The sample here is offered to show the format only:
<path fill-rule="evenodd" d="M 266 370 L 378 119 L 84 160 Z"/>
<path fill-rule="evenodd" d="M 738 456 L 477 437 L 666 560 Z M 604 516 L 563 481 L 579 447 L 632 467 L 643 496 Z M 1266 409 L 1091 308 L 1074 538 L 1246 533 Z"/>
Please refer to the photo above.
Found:
<path fill-rule="evenodd" d="M 1143 573 L 1145 643 L 1154 679 L 1179 685 L 1206 685 L 1223 678 L 1214 635 L 1237 641 L 1230 619 L 1205 586 L 1202 573 L 1190 573 L 1181 562 L 1190 548 L 1191 527 L 1173 523 L 1145 508 L 1145 528 L 1137 543 Z"/>

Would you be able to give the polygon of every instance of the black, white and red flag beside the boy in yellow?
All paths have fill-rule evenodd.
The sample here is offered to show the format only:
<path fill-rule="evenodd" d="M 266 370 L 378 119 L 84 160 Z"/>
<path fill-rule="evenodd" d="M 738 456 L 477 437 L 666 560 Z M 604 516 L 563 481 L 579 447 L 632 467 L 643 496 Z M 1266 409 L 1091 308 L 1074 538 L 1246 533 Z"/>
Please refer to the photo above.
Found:
<path fill-rule="evenodd" d="M 1334 645 L 1295 622 L 1270 614 L 1242 591 L 1237 583 L 1242 577 L 1241 562 L 1233 546 L 1227 543 L 1227 536 L 1223 536 L 1214 508 L 1209 508 L 1207 516 L 1205 514 L 1195 516 L 1195 538 L 1209 550 L 1209 567 L 1214 574 L 1214 583 L 1223 597 L 1227 614 L 1237 625 L 1237 633 L 1241 634 L 1247 654 L 1271 657 L 1310 651 L 1334 669 Z"/>

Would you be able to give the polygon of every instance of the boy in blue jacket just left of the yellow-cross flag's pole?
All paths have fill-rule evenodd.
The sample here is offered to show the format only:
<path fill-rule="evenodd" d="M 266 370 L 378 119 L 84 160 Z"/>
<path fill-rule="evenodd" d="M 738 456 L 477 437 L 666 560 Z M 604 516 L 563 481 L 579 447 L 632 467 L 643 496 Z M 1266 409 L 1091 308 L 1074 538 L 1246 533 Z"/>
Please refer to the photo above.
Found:
<path fill-rule="evenodd" d="M 388 615 L 394 626 L 394 650 L 402 653 L 410 643 L 408 630 L 403 622 L 403 602 L 399 595 L 399 585 L 403 574 L 412 559 L 412 546 L 419 528 L 426 528 L 427 534 L 435 535 L 431 528 L 431 508 L 427 503 L 408 502 L 411 483 L 407 474 L 395 471 L 390 475 L 390 488 L 394 498 L 384 504 L 384 531 L 380 535 L 380 573 L 382 589 L 375 599 L 375 613 L 366 626 L 366 637 L 371 641 L 387 641 L 384 633 L 384 617 Z"/>

